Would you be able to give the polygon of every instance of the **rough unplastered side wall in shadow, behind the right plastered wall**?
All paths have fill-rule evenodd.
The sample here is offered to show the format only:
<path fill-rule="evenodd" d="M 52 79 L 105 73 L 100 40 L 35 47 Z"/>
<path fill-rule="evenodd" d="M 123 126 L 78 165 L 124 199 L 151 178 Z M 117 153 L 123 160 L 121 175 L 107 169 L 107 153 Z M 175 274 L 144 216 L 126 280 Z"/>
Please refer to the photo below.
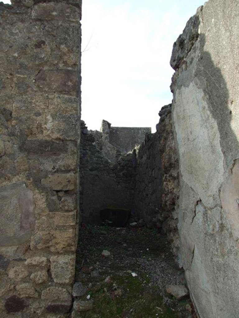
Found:
<path fill-rule="evenodd" d="M 175 148 L 171 104 L 162 107 L 157 131 L 147 135 L 137 154 L 135 205 L 138 218 L 167 233 L 177 254 L 177 216 L 179 196 L 178 158 Z"/>

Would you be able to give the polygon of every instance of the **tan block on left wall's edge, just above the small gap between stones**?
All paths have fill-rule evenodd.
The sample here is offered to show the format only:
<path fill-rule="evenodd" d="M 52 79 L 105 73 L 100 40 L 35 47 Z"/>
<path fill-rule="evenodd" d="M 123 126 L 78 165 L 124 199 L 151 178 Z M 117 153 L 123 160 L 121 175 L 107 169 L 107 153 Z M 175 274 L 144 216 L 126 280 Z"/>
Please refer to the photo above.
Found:
<path fill-rule="evenodd" d="M 41 183 L 55 191 L 73 190 L 76 184 L 76 175 L 73 173 L 54 173 L 46 179 L 42 179 Z"/>

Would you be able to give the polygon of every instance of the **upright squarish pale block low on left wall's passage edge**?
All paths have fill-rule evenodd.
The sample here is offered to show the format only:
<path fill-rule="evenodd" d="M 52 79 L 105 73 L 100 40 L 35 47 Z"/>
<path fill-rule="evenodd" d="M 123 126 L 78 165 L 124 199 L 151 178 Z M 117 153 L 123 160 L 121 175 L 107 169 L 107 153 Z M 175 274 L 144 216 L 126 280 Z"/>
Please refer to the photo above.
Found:
<path fill-rule="evenodd" d="M 75 275 L 75 255 L 52 256 L 51 274 L 55 283 L 71 284 Z"/>

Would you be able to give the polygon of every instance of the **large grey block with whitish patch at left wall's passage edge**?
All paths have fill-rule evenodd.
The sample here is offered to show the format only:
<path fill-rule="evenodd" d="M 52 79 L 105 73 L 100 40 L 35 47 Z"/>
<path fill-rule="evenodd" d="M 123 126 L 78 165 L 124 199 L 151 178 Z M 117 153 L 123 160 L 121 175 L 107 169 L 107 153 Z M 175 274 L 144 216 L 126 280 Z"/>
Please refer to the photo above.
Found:
<path fill-rule="evenodd" d="M 44 134 L 51 136 L 52 139 L 77 141 L 79 139 L 79 116 L 48 114 Z"/>

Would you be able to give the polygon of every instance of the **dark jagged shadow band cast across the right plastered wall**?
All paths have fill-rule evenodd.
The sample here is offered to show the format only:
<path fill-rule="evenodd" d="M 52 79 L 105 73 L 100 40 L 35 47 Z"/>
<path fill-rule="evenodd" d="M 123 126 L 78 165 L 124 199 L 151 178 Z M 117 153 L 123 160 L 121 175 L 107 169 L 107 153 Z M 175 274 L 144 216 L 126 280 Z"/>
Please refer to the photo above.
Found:
<path fill-rule="evenodd" d="M 233 164 L 232 158 L 235 159 L 238 156 L 239 142 L 231 128 L 233 114 L 229 107 L 229 105 L 233 105 L 234 101 L 229 100 L 227 83 L 223 78 L 221 68 L 214 64 L 209 52 L 203 51 L 206 41 L 205 34 L 200 34 L 199 40 L 202 55 L 195 75 L 199 79 L 201 88 L 208 100 L 209 110 L 217 122 L 221 149 L 227 169 Z M 220 62 L 222 65 L 227 63 L 227 61 Z"/>

